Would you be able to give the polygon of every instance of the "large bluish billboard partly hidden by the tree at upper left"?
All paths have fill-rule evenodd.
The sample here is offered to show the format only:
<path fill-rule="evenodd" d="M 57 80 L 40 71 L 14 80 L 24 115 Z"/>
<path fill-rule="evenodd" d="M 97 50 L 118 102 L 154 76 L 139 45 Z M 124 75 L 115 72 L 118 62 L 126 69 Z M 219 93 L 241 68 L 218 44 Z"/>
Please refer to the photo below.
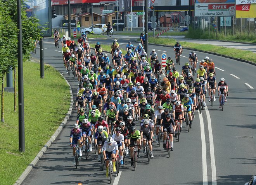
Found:
<path fill-rule="evenodd" d="M 35 16 L 39 19 L 42 27 L 43 37 L 51 37 L 51 1 L 50 0 L 25 0 L 22 2 L 22 8 L 25 9 L 28 17 Z M 48 29 L 43 29 L 43 27 Z"/>

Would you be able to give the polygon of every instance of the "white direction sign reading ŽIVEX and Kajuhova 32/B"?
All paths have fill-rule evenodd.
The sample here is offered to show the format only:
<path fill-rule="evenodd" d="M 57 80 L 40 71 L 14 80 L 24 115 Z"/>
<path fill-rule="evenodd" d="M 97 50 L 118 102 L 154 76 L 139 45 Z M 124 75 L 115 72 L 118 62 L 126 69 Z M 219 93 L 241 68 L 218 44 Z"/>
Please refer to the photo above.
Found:
<path fill-rule="evenodd" d="M 234 3 L 195 3 L 195 17 L 230 16 Z"/>

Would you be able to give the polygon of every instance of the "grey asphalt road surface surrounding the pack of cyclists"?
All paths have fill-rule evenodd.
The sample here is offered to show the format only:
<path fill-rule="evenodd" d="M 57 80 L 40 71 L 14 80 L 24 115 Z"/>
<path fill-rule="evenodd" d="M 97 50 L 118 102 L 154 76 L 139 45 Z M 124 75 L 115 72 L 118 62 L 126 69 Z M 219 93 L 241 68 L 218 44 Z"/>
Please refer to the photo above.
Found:
<path fill-rule="evenodd" d="M 107 37 L 97 39 L 107 44 L 118 39 L 125 48 L 128 40 L 134 37 Z M 89 41 L 90 42 L 90 41 Z M 93 41 L 95 42 L 95 41 Z M 234 44 L 234 43 L 233 43 Z M 78 82 L 65 72 L 61 58 L 61 49 L 54 42 L 45 39 L 45 63 L 59 70 L 71 84 L 76 94 Z M 149 46 L 151 50 L 153 47 Z M 174 57 L 173 48 L 154 46 L 158 55 L 167 52 Z M 104 48 L 103 48 L 104 49 Z M 39 49 L 37 49 L 39 51 Z M 190 51 L 183 51 L 181 64 L 188 61 Z M 196 52 L 201 60 L 206 56 Z M 182 131 L 180 142 L 174 142 L 171 157 L 166 151 L 153 144 L 154 159 L 147 164 L 145 154 L 139 158 L 136 171 L 130 163 L 121 168 L 121 175 L 114 184 L 174 184 L 174 185 L 240 185 L 255 175 L 256 139 L 255 108 L 256 66 L 207 54 L 216 65 L 217 80 L 225 78 L 229 87 L 229 96 L 224 110 L 218 108 L 218 99 L 214 106 L 196 113 L 190 132 Z M 39 52 L 33 57 L 39 59 Z M 181 72 L 181 66 L 176 66 Z M 235 75 L 235 76 L 234 76 Z M 208 97 L 208 96 L 207 96 Z M 208 98 L 207 98 L 208 99 Z M 76 119 L 73 113 L 57 140 L 51 145 L 35 168 L 22 183 L 23 185 L 50 184 L 107 184 L 106 171 L 101 171 L 97 156 L 90 154 L 88 160 L 82 156 L 78 169 L 72 163 L 73 156 L 69 147 L 69 133 Z"/>

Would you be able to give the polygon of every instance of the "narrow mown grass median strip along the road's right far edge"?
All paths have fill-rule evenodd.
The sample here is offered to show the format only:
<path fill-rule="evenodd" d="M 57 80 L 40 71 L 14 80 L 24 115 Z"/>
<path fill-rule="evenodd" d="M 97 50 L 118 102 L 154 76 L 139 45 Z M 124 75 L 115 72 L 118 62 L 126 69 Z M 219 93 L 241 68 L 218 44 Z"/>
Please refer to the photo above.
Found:
<path fill-rule="evenodd" d="M 176 43 L 176 40 L 169 39 L 169 38 L 149 37 L 149 43 L 173 46 Z M 240 59 L 244 59 L 244 60 L 248 60 L 253 63 L 256 63 L 256 53 L 253 53 L 251 51 L 242 51 L 240 49 L 225 48 L 221 46 L 214 46 L 211 44 L 197 44 L 193 42 L 180 42 L 180 44 L 182 45 L 182 47 L 185 47 L 185 48 L 192 48 L 192 49 L 197 49 L 201 51 L 210 51 L 210 52 L 224 54 L 234 58 L 240 58 Z"/>

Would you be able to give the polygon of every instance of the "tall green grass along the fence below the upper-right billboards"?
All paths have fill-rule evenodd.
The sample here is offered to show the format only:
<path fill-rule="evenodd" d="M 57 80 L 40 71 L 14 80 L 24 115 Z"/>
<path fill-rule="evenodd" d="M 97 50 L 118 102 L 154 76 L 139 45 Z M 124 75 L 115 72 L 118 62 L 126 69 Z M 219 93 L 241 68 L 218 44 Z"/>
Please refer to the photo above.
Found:
<path fill-rule="evenodd" d="M 226 30 L 226 35 L 223 30 L 218 32 L 216 35 L 216 31 L 214 29 L 211 29 L 209 33 L 208 30 L 203 31 L 202 29 L 193 29 L 193 27 L 190 27 L 189 32 L 187 32 L 185 37 L 190 39 L 216 39 L 256 43 L 256 34 L 254 29 L 251 30 L 249 35 L 248 31 L 243 31 L 242 34 L 240 34 L 240 30 L 236 30 L 235 34 L 233 34 L 233 30 L 231 29 Z"/>

